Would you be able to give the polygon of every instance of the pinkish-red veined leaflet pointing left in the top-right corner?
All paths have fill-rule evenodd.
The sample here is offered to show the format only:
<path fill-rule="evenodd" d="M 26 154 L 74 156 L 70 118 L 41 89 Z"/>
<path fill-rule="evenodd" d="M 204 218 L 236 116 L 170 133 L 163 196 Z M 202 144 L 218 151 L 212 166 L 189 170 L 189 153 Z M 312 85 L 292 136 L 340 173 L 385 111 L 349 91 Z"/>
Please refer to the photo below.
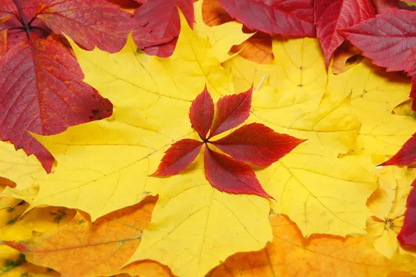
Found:
<path fill-rule="evenodd" d="M 413 72 L 416 61 L 416 12 L 393 10 L 341 30 L 347 40 L 388 71 Z"/>

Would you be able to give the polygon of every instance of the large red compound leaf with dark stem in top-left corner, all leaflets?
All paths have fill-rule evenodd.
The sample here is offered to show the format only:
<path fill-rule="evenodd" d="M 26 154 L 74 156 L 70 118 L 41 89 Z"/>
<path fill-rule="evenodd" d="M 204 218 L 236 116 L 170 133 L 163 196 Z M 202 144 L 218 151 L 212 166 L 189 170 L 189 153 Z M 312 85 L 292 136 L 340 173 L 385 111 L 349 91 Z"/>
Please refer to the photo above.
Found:
<path fill-rule="evenodd" d="M 111 113 L 111 104 L 83 83 L 59 34 L 114 53 L 125 44 L 130 20 L 101 0 L 0 0 L 1 140 L 35 154 L 50 172 L 51 153 L 26 131 L 53 135 Z"/>

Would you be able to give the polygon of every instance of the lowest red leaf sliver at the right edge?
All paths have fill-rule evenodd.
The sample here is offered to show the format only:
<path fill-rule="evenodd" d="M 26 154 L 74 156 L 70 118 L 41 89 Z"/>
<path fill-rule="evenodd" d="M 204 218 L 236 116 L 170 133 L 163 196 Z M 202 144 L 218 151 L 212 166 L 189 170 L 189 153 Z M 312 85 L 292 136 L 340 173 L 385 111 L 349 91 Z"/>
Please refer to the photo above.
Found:
<path fill-rule="evenodd" d="M 412 183 L 404 212 L 404 224 L 401 227 L 397 240 L 402 246 L 416 246 L 416 180 Z"/>

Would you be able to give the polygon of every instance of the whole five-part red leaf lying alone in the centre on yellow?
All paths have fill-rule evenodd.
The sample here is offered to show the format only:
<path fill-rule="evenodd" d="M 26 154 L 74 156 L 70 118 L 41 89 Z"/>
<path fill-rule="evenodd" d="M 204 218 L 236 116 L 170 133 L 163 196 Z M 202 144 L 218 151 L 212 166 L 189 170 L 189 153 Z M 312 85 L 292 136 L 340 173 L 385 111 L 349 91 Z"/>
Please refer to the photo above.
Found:
<path fill-rule="evenodd" d="M 201 141 L 183 139 L 175 142 L 165 152 L 162 162 L 151 176 L 172 176 L 180 173 L 196 159 L 205 144 L 205 176 L 221 192 L 231 194 L 257 194 L 271 198 L 263 190 L 250 165 L 266 166 L 279 160 L 304 140 L 275 133 L 259 123 L 243 125 L 220 140 L 211 141 L 215 135 L 243 124 L 250 115 L 252 88 L 241 94 L 224 96 L 216 103 L 205 87 L 192 102 L 189 119 Z M 209 135 L 208 135 L 209 133 Z M 214 151 L 216 146 L 229 156 Z"/>

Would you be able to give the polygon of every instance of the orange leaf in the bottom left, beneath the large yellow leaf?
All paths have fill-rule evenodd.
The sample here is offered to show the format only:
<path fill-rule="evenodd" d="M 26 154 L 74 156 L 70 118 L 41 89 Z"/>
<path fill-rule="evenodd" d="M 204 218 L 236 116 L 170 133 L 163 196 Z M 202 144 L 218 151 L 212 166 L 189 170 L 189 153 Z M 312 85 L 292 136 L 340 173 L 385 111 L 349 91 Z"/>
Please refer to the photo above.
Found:
<path fill-rule="evenodd" d="M 68 224 L 22 242 L 26 259 L 63 276 L 110 276 L 120 270 L 140 243 L 156 199 L 146 199 L 101 217 L 93 224 L 81 212 Z M 140 272 L 137 272 L 140 275 Z"/>

